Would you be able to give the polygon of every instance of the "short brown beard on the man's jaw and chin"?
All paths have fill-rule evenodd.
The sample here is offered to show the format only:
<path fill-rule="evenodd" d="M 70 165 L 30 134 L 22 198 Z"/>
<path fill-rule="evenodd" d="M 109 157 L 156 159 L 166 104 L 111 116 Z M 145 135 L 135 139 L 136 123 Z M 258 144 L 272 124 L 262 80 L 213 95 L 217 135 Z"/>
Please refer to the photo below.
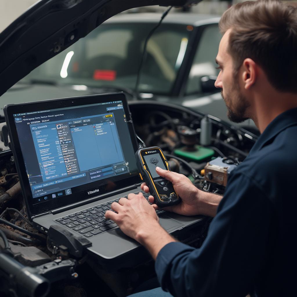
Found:
<path fill-rule="evenodd" d="M 235 77 L 234 77 L 234 81 Z M 234 123 L 241 123 L 247 119 L 247 108 L 250 106 L 247 99 L 240 93 L 239 86 L 234 84 L 232 90 L 230 91 L 230 96 L 223 95 L 223 90 L 221 90 L 221 96 L 225 101 L 227 107 L 228 119 Z M 231 98 L 232 96 L 232 98 Z"/>

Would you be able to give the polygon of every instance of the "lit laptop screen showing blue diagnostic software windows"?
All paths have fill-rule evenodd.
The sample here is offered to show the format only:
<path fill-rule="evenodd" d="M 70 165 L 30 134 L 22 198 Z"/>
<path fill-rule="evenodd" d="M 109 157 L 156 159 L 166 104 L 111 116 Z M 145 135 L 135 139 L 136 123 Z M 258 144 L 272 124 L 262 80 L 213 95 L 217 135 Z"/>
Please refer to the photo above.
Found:
<path fill-rule="evenodd" d="M 138 174 L 121 100 L 13 114 L 33 203 L 61 200 Z M 64 204 L 64 203 L 63 203 Z"/>

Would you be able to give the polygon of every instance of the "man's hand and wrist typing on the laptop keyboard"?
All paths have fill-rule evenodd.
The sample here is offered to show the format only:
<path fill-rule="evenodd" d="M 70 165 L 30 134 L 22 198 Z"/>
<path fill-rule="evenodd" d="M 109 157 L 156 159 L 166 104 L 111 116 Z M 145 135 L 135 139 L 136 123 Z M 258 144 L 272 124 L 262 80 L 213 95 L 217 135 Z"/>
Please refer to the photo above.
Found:
<path fill-rule="evenodd" d="M 169 242 L 175 241 L 159 224 L 155 209 L 147 202 L 142 193 L 129 194 L 119 203 L 111 204 L 113 211 L 106 211 L 105 217 L 115 221 L 128 236 L 144 245 L 156 259 L 159 251 Z"/>

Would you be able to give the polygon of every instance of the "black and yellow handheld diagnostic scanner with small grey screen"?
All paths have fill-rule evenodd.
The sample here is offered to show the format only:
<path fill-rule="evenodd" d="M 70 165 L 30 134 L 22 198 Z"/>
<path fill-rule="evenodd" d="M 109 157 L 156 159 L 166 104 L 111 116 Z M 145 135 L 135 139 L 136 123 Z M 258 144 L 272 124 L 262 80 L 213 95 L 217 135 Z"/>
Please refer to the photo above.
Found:
<path fill-rule="evenodd" d="M 157 206 L 165 207 L 178 204 L 181 199 L 176 194 L 173 184 L 159 176 L 156 171 L 157 166 L 170 170 L 162 150 L 157 146 L 142 148 L 135 153 L 135 157 L 140 178 L 149 187 L 149 191 L 154 197 Z"/>

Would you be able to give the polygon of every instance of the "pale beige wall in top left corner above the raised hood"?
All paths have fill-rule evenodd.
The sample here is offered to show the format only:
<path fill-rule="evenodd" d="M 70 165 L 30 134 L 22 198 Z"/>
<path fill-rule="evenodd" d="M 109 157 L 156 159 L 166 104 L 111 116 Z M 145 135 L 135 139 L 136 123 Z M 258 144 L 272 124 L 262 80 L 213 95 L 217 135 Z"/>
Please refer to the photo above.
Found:
<path fill-rule="evenodd" d="M 0 32 L 37 0 L 0 0 Z"/>

